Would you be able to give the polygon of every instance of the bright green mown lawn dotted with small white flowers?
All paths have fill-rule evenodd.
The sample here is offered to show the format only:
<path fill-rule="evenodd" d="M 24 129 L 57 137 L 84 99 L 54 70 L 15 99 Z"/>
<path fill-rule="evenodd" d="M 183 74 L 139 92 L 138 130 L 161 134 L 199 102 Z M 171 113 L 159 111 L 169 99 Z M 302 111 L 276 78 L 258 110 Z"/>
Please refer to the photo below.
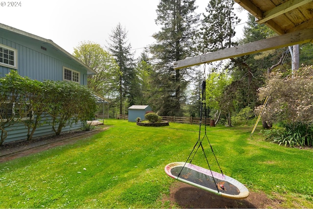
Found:
<path fill-rule="evenodd" d="M 0 208 L 169 208 L 161 199 L 175 180 L 164 166 L 187 159 L 199 127 L 106 122 L 111 128 L 75 144 L 0 163 Z M 313 208 L 313 150 L 269 143 L 257 131 L 250 138 L 251 129 L 207 128 L 224 174 L 282 208 Z M 193 163 L 207 167 L 201 150 Z"/>

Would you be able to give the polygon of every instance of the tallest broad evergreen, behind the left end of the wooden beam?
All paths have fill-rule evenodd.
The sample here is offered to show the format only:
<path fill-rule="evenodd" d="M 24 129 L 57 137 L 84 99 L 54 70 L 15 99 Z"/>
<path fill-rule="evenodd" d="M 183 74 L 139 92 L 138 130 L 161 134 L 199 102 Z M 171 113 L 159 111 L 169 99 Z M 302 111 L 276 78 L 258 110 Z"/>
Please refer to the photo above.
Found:
<path fill-rule="evenodd" d="M 196 8 L 195 0 L 160 0 L 157 6 L 156 24 L 162 27 L 153 35 L 156 44 L 151 46 L 155 60 L 152 93 L 160 115 L 182 115 L 187 70 L 174 70 L 173 63 L 192 56 L 195 51 L 195 26 L 199 22 Z"/>

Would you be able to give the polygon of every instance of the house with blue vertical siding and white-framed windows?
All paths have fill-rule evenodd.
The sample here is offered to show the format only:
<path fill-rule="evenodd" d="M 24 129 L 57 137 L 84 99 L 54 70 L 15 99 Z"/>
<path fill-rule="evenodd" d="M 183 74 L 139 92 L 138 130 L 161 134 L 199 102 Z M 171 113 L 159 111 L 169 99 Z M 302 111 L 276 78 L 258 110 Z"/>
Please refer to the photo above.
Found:
<path fill-rule="evenodd" d="M 53 41 L 0 23 L 0 76 L 10 70 L 33 80 L 64 80 L 81 85 L 87 85 L 87 77 L 96 73 Z M 78 123 L 63 131 L 80 127 Z M 34 137 L 53 133 L 46 124 L 36 130 Z M 5 142 L 26 139 L 26 135 L 25 126 L 15 124 L 9 127 Z"/>

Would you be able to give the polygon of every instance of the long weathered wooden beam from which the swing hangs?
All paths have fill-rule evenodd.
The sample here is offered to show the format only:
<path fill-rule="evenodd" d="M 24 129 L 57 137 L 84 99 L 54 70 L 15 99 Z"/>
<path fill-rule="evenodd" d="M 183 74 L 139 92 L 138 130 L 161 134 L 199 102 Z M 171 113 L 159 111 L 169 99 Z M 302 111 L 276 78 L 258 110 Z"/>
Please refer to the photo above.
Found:
<path fill-rule="evenodd" d="M 272 38 L 251 42 L 241 46 L 225 48 L 223 50 L 202 54 L 200 56 L 187 58 L 174 62 L 174 69 L 179 70 L 195 65 L 210 63 L 228 58 L 240 57 L 248 54 L 258 53 L 271 49 L 282 48 L 297 44 L 313 42 L 313 28 L 291 32 Z"/>

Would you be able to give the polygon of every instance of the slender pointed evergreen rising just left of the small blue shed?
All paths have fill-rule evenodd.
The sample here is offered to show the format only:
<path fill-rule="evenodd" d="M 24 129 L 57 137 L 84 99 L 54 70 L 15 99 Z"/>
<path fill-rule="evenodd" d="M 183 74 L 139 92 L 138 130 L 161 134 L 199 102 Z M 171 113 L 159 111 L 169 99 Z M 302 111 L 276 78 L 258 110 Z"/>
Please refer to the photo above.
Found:
<path fill-rule="evenodd" d="M 131 53 L 131 44 L 127 44 L 127 31 L 120 23 L 112 30 L 110 35 L 111 43 L 108 48 L 116 60 L 121 71 L 118 78 L 118 100 L 119 112 L 123 114 L 123 103 L 125 98 L 128 99 L 130 105 L 134 104 L 136 97 L 136 71 L 134 68 L 134 55 Z"/>

